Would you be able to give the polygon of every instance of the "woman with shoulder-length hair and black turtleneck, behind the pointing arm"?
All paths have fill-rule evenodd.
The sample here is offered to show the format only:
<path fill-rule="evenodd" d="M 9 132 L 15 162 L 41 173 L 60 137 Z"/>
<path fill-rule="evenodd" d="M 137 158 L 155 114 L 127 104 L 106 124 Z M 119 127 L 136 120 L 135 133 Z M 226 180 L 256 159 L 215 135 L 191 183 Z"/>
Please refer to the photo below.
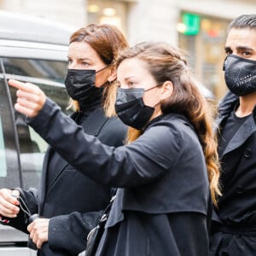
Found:
<path fill-rule="evenodd" d="M 111 117 L 116 94 L 113 59 L 118 49 L 127 45 L 117 28 L 91 24 L 73 33 L 67 56 L 65 85 L 72 98 L 70 107 L 74 112 L 71 118 L 83 131 L 113 147 L 122 145 L 126 135 L 125 125 L 117 117 Z M 55 128 L 61 135 L 61 129 Z M 65 134 L 62 136 L 65 141 Z M 70 142 L 67 147 L 75 151 L 79 145 Z M 96 183 L 81 172 L 75 172 L 55 148 L 49 147 L 44 157 L 40 189 L 0 191 L 0 213 L 10 217 L 9 225 L 28 233 L 30 214 L 19 207 L 12 215 L 3 212 L 3 199 L 9 201 L 11 193 L 20 194 L 30 214 L 38 213 L 43 217 L 39 219 L 37 231 L 30 231 L 31 236 L 35 233 L 34 236 L 41 238 L 36 242 L 40 249 L 38 255 L 49 256 L 77 255 L 85 249 L 86 236 L 96 225 L 98 212 L 108 205 L 112 190 L 110 185 Z M 14 203 L 14 199 L 11 200 Z M 22 202 L 20 205 L 22 207 Z M 17 217 L 13 218 L 15 215 Z"/>

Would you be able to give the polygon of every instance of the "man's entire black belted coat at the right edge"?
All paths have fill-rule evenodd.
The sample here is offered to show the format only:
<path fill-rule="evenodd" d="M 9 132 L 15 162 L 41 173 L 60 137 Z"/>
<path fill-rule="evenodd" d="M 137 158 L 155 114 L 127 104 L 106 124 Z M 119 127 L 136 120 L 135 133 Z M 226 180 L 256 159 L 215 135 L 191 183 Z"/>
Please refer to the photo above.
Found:
<path fill-rule="evenodd" d="M 238 104 L 239 98 L 230 92 L 220 102 L 217 119 L 218 136 L 221 136 L 226 119 Z M 223 195 L 218 199 L 218 208 L 215 209 L 216 214 L 212 219 L 214 239 L 212 239 L 211 255 L 222 255 L 222 250 L 226 251 L 225 255 L 232 256 L 256 254 L 255 131 L 256 108 L 240 126 L 226 148 L 219 148 L 220 152 L 223 152 L 219 154 Z M 217 234 L 219 231 L 222 233 Z"/>

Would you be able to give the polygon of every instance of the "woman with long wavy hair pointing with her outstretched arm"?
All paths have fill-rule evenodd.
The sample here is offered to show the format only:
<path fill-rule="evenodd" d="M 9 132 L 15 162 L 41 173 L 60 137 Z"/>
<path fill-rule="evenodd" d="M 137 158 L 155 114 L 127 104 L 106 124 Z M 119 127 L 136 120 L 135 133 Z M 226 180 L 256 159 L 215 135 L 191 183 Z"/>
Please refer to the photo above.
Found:
<path fill-rule="evenodd" d="M 41 90 L 12 80 L 15 109 L 80 172 L 119 188 L 95 255 L 207 256 L 219 194 L 209 106 L 167 44 L 137 44 L 117 65 L 115 108 L 132 127 L 128 145 L 109 147 L 84 134 Z M 79 147 L 70 150 L 71 142 Z"/>

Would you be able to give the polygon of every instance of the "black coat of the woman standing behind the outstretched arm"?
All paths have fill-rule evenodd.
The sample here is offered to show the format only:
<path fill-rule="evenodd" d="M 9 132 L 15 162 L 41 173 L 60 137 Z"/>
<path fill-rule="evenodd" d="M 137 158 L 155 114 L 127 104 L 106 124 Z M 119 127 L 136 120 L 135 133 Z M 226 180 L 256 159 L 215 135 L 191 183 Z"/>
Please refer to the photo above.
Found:
<path fill-rule="evenodd" d="M 76 119 L 77 115 L 73 113 L 72 118 Z M 102 108 L 96 108 L 81 125 L 85 132 L 98 137 L 102 143 L 115 147 L 124 143 L 125 125 L 116 117 L 106 118 Z M 61 135 L 61 130 L 57 130 Z M 62 136 L 65 140 L 65 134 Z M 79 145 L 76 143 L 68 144 L 72 151 L 77 147 Z M 54 169 L 49 170 L 49 161 L 53 156 Z M 98 212 L 108 205 L 111 192 L 110 186 L 96 183 L 81 172 L 76 172 L 49 147 L 44 157 L 40 189 L 21 191 L 32 213 L 38 212 L 40 216 L 50 218 L 49 241 L 38 251 L 38 255 L 66 256 L 83 251 L 86 237 L 98 222 Z M 26 216 L 24 218 L 22 211 L 10 224 L 27 232 Z"/>

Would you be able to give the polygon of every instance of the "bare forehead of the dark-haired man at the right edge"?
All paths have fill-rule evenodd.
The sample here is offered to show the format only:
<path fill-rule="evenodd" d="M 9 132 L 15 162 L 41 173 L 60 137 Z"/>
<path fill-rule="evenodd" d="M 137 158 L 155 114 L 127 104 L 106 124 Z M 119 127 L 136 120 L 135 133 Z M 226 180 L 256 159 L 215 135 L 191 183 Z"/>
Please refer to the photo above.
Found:
<path fill-rule="evenodd" d="M 232 28 L 228 34 L 225 46 L 231 49 L 243 46 L 256 50 L 256 29 Z"/>

